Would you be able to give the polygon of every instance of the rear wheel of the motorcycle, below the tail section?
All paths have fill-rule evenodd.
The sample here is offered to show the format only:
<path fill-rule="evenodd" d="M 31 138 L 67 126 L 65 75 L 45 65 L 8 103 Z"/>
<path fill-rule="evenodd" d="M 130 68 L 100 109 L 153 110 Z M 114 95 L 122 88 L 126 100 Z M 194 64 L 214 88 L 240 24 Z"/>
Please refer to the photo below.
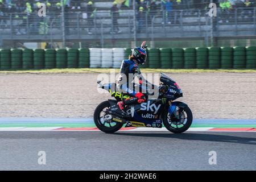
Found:
<path fill-rule="evenodd" d="M 94 111 L 93 119 L 98 129 L 105 133 L 115 133 L 123 126 L 122 123 L 114 122 L 112 115 L 108 114 L 109 101 L 101 102 Z"/>

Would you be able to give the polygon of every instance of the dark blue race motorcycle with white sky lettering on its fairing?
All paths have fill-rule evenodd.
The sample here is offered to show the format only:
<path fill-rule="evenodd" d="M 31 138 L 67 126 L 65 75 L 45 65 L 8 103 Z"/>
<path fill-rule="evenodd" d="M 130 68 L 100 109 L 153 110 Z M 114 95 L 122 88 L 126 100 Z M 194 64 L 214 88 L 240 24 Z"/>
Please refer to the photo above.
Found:
<path fill-rule="evenodd" d="M 127 109 L 129 117 L 118 113 L 117 102 L 130 98 L 127 94 L 119 92 L 115 83 L 101 84 L 97 81 L 98 87 L 110 92 L 115 100 L 108 100 L 98 105 L 94 111 L 94 123 L 105 133 L 114 133 L 125 127 L 157 127 L 163 125 L 172 133 L 183 133 L 188 130 L 193 121 L 193 115 L 188 105 L 175 101 L 183 97 L 183 92 L 177 83 L 164 73 L 160 73 L 159 88 L 166 88 L 159 91 L 158 98 L 147 100 L 142 104 L 132 105 Z"/>

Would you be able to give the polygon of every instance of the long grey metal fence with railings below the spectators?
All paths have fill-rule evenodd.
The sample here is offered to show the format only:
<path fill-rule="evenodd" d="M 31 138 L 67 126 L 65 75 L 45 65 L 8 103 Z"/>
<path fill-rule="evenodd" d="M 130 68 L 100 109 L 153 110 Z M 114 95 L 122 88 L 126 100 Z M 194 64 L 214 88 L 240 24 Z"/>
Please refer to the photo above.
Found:
<path fill-rule="evenodd" d="M 46 17 L 11 13 L 0 16 L 0 31 L 6 40 L 100 40 L 100 47 L 105 46 L 105 40 L 194 37 L 208 41 L 210 36 L 255 35 L 255 13 L 254 7 L 218 10 L 211 21 L 207 10 L 135 14 L 133 10 L 123 10 L 119 17 L 110 11 L 98 11 L 93 17 L 77 12 L 65 13 L 64 23 L 61 13 L 48 13 Z"/>

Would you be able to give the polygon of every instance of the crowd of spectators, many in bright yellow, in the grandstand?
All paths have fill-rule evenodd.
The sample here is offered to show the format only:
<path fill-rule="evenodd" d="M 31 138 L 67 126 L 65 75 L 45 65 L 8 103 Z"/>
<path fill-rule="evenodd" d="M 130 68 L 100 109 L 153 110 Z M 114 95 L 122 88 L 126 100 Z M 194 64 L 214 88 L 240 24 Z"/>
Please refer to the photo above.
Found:
<path fill-rule="evenodd" d="M 26 24 L 27 19 L 29 22 L 39 22 L 34 23 L 32 28 L 39 29 L 42 33 L 46 33 L 48 30 L 48 23 L 42 22 L 42 18 L 34 16 L 38 13 L 41 8 L 40 2 L 45 3 L 47 7 L 47 12 L 60 13 L 61 12 L 61 1 L 60 0 L 0 0 L 0 23 L 3 21 L 4 17 L 6 19 L 10 18 L 12 14 L 13 19 L 22 19 L 23 23 L 19 24 L 22 27 Z M 97 8 L 93 0 L 63 0 L 65 13 L 73 13 L 80 11 L 83 17 L 87 19 L 88 24 L 88 34 L 92 34 L 92 28 L 94 24 L 94 14 L 100 9 Z M 147 22 L 151 23 L 156 15 L 162 15 L 162 24 L 172 24 L 176 23 L 178 15 L 174 10 L 184 10 L 185 14 L 191 15 L 192 10 L 196 9 L 207 9 L 210 0 L 135 0 L 137 9 L 137 23 L 138 31 L 141 31 L 147 17 Z M 232 16 L 232 11 L 237 7 L 243 7 L 240 13 L 242 18 L 250 18 L 253 11 L 249 9 L 250 7 L 256 6 L 256 0 L 213 0 L 212 2 L 217 3 L 218 11 L 226 18 L 220 19 L 220 23 L 229 22 L 230 16 Z M 125 9 L 133 9 L 133 0 L 114 0 L 112 7 L 109 9 L 112 17 L 112 33 L 120 33 L 118 27 L 119 13 Z M 71 19 L 71 16 L 67 16 L 67 19 Z M 51 19 L 51 18 L 50 18 Z M 1 24 L 0 24 L 1 26 Z M 66 26 L 68 26 L 68 21 Z M 26 34 L 26 32 L 21 32 L 16 28 L 16 34 Z M 68 32 L 67 32 L 68 33 Z"/>

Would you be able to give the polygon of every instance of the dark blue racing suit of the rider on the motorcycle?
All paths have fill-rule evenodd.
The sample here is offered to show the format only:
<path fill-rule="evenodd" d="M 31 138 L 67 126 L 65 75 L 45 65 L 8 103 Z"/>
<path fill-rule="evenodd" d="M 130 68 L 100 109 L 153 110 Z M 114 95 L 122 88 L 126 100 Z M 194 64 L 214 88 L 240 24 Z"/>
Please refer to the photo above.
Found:
<path fill-rule="evenodd" d="M 133 82 L 135 77 L 139 79 L 139 84 Z M 134 105 L 145 102 L 146 94 L 144 93 L 146 93 L 148 88 L 154 88 L 154 85 L 143 77 L 138 64 L 131 58 L 123 60 L 122 62 L 117 88 L 121 90 L 122 93 L 130 96 L 130 98 L 118 102 L 119 108 L 123 110 L 124 105 Z"/>

